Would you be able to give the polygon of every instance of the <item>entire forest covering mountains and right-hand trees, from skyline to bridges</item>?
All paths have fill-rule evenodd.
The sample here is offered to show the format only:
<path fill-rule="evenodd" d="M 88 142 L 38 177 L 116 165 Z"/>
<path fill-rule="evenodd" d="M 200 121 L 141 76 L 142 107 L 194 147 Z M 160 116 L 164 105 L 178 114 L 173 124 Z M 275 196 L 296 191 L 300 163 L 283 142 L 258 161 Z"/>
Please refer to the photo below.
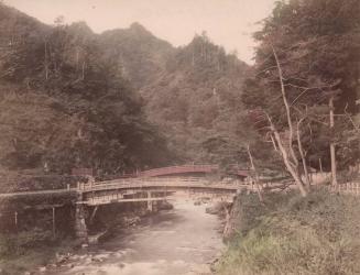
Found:
<path fill-rule="evenodd" d="M 176 48 L 139 23 L 95 34 L 1 4 L 1 167 L 246 168 L 250 154 L 252 168 L 297 178 L 330 170 L 331 160 L 356 165 L 358 10 L 356 1 L 277 2 L 254 34 L 250 67 L 206 32 Z"/>

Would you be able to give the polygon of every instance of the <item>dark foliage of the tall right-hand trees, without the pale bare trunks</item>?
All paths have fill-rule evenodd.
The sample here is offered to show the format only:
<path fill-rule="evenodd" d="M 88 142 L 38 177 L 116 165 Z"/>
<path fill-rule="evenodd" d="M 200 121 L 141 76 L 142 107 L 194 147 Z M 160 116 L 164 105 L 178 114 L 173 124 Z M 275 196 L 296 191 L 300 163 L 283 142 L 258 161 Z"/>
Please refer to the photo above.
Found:
<path fill-rule="evenodd" d="M 276 52 L 283 73 L 292 120 L 306 117 L 301 128 L 307 162 L 318 167 L 321 158 L 329 168 L 329 143 L 338 148 L 339 168 L 358 161 L 359 133 L 349 120 L 359 110 L 360 12 L 356 0 L 279 1 L 273 13 L 254 34 L 257 47 L 252 77 L 246 80 L 244 105 L 262 110 L 279 131 L 287 130 L 282 102 Z M 329 131 L 329 98 L 336 99 L 336 129 Z M 345 109 L 349 117 L 343 116 Z M 258 117 L 261 124 L 265 117 Z M 347 152 L 347 153 L 345 153 Z M 350 153 L 352 152 L 352 153 Z M 350 153 L 350 154 L 349 154 Z"/>

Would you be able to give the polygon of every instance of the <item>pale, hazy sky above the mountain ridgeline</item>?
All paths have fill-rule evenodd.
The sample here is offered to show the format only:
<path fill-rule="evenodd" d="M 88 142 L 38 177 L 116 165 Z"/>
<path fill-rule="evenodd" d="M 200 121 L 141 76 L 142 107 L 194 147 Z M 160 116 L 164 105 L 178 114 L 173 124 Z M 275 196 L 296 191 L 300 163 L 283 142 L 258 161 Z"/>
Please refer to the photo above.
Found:
<path fill-rule="evenodd" d="M 58 15 L 66 23 L 86 21 L 97 33 L 139 22 L 175 46 L 207 31 L 216 44 L 251 63 L 257 22 L 266 18 L 275 0 L 4 0 L 40 21 L 52 24 Z"/>

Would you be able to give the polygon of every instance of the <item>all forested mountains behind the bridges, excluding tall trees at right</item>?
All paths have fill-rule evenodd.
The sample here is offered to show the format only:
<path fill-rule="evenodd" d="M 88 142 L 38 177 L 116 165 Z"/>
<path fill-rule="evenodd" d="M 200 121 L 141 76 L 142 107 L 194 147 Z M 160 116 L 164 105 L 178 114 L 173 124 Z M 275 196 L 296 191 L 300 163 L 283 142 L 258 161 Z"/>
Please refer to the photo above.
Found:
<path fill-rule="evenodd" d="M 175 48 L 139 23 L 95 34 L 1 4 L 0 54 L 4 169 L 119 173 L 236 158 L 248 66 L 206 34 Z"/>

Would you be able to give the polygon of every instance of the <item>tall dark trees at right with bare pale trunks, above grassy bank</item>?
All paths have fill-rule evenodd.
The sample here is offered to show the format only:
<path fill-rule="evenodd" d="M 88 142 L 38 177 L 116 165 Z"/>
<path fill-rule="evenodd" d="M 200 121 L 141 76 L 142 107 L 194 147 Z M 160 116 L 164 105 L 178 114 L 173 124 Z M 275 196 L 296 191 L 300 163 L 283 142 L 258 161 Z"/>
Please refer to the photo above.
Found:
<path fill-rule="evenodd" d="M 242 94 L 260 140 L 252 146 L 271 143 L 304 196 L 312 168 L 331 169 L 336 186 L 337 170 L 359 162 L 359 11 L 352 0 L 277 2 L 254 34 Z"/>

